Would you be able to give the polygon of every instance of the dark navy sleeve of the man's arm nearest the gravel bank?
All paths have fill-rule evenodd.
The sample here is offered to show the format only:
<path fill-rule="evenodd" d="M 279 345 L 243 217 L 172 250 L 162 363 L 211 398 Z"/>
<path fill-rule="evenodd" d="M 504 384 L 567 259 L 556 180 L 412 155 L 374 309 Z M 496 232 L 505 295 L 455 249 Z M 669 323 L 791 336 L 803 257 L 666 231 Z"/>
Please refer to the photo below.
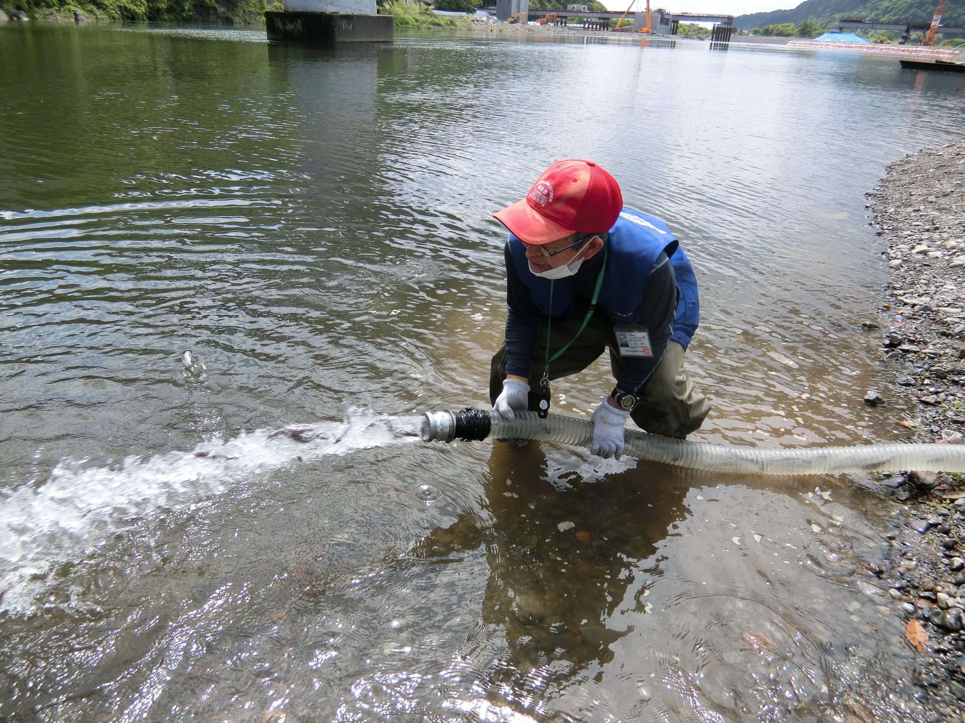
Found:
<path fill-rule="evenodd" d="M 670 259 L 665 254 L 660 254 L 644 287 L 644 299 L 640 305 L 638 322 L 641 326 L 647 327 L 653 356 L 623 359 L 623 373 L 617 380 L 619 388 L 636 393 L 644 386 L 657 364 L 663 359 L 667 342 L 673 333 L 676 302 L 674 267 L 671 266 Z"/>

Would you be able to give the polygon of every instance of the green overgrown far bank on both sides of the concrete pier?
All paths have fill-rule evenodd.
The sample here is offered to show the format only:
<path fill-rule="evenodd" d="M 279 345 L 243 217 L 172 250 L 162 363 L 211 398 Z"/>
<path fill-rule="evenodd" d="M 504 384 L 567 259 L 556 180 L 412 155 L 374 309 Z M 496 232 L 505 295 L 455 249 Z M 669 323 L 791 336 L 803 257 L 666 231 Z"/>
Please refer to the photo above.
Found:
<path fill-rule="evenodd" d="M 80 12 L 98 20 L 151 20 L 156 22 L 207 22 L 221 24 L 258 24 L 265 10 L 282 10 L 281 0 L 0 0 L 0 10 L 15 11 L 34 19 L 55 16 L 73 19 Z M 397 28 L 457 28 L 468 20 L 437 15 L 422 4 L 379 3 L 379 13 L 391 14 Z"/>

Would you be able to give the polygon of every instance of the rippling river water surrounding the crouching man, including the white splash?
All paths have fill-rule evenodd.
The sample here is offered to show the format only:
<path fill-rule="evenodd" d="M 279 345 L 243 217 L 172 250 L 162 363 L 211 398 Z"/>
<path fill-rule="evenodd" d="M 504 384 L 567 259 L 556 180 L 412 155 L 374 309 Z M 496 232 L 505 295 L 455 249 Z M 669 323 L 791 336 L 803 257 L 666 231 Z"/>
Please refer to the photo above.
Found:
<path fill-rule="evenodd" d="M 864 194 L 960 137 L 959 80 L 687 41 L 0 27 L 0 718 L 931 719 L 867 572 L 877 480 L 411 431 L 487 405 L 490 214 L 586 157 L 697 269 L 695 439 L 904 439 L 862 402 L 890 375 Z M 611 384 L 594 365 L 555 410 Z"/>

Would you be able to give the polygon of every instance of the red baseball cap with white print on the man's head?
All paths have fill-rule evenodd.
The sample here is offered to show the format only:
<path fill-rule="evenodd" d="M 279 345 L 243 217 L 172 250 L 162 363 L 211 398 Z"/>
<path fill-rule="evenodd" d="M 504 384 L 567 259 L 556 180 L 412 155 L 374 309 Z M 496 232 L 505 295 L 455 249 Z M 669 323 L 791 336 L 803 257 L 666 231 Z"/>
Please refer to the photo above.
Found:
<path fill-rule="evenodd" d="M 617 179 L 593 161 L 557 161 L 522 201 L 493 214 L 528 244 L 548 244 L 570 233 L 603 233 L 617 223 L 623 197 Z"/>

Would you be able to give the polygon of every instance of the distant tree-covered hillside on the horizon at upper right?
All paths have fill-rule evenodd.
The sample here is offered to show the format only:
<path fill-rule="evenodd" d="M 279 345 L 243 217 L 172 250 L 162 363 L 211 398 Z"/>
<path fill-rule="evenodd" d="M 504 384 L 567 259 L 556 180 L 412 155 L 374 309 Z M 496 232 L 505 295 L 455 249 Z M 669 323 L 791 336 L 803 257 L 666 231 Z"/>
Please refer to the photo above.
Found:
<path fill-rule="evenodd" d="M 739 15 L 733 22 L 741 30 L 804 20 L 813 20 L 822 27 L 831 28 L 842 17 L 886 22 L 929 22 L 936 5 L 937 0 L 805 0 L 793 10 Z M 942 22 L 965 25 L 965 0 L 948 0 L 942 13 Z"/>

